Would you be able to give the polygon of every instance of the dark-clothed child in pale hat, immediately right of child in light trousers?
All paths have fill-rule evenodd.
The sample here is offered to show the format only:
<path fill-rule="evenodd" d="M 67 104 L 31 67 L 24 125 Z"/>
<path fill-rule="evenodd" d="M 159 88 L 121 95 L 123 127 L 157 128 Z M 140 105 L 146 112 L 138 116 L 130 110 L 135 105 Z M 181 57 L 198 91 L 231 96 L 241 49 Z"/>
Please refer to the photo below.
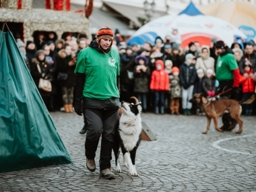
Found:
<path fill-rule="evenodd" d="M 194 85 L 194 90 L 193 90 L 193 94 L 199 94 L 203 92 L 203 77 L 204 77 L 205 72 L 203 71 L 202 68 L 197 69 L 197 80 L 195 82 Z M 197 106 L 197 104 L 195 105 L 195 109 L 196 109 L 196 114 L 197 115 L 203 115 L 203 110 L 201 110 L 201 108 L 199 108 Z"/>

